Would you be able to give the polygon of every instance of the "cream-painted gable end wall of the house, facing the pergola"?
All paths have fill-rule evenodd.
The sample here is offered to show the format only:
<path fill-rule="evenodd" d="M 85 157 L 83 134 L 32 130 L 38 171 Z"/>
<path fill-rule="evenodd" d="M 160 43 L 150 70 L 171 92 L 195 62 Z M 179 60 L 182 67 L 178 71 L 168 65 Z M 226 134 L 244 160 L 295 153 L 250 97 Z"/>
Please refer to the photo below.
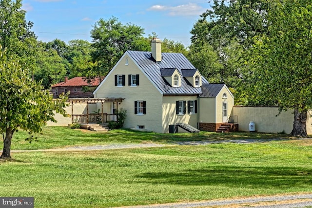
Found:
<path fill-rule="evenodd" d="M 126 58 L 128 58 L 128 65 L 125 65 Z M 138 86 L 128 86 L 128 75 L 132 74 L 139 75 Z M 125 86 L 115 86 L 115 75 L 125 75 Z M 125 98 L 118 104 L 118 109 L 127 110 L 124 128 L 132 129 L 137 128 L 137 125 L 144 125 L 146 131 L 162 132 L 162 95 L 127 55 L 122 57 L 116 67 L 105 77 L 94 97 Z M 146 101 L 146 114 L 135 114 L 134 103 L 138 100 Z M 111 103 L 104 103 L 104 109 L 109 113 L 111 113 L 111 105 Z"/>

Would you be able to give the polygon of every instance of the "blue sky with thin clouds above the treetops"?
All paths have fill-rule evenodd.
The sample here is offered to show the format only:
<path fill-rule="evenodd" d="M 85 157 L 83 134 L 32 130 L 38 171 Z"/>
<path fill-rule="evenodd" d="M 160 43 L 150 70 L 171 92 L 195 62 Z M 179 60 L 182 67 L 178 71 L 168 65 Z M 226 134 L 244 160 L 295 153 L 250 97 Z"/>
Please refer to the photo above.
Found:
<path fill-rule="evenodd" d="M 123 23 L 144 28 L 145 37 L 156 32 L 191 44 L 190 31 L 199 16 L 209 9 L 208 0 L 23 0 L 26 20 L 44 42 L 84 39 L 92 42 L 92 26 L 100 19 L 116 17 Z"/>

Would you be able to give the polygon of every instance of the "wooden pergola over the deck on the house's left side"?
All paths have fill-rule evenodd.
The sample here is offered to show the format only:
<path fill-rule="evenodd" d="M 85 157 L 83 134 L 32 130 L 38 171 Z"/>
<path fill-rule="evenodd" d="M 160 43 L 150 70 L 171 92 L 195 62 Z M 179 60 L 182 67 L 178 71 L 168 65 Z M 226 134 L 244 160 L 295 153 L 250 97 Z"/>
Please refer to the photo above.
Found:
<path fill-rule="evenodd" d="M 106 97 L 106 98 L 68 98 L 67 102 L 72 104 L 72 123 L 75 119 L 77 119 L 77 123 L 85 123 L 89 124 L 89 104 L 95 104 L 95 103 L 101 103 L 101 113 L 92 113 L 93 116 L 100 116 L 101 117 L 101 123 L 104 123 L 107 121 L 107 115 L 115 115 L 115 114 L 107 114 L 105 113 L 106 117 L 104 116 L 103 112 L 103 106 L 105 102 L 109 103 L 117 103 L 117 109 L 118 109 L 118 104 L 120 104 L 125 98 L 116 98 L 116 97 Z M 74 115 L 74 104 L 76 103 L 86 103 L 87 104 L 87 114 L 80 114 L 80 115 Z M 85 121 L 85 122 L 83 122 Z"/>

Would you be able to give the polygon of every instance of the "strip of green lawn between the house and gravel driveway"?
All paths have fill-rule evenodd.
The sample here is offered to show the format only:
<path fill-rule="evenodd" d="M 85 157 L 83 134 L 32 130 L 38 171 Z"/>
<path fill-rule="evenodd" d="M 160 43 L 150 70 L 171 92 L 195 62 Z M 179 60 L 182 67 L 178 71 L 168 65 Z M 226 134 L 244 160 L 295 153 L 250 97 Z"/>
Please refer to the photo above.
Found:
<path fill-rule="evenodd" d="M 38 141 L 31 144 L 25 141 L 28 132 L 15 132 L 13 135 L 11 150 L 38 150 L 62 148 L 69 146 L 106 145 L 115 143 L 168 143 L 173 141 L 201 141 L 201 140 L 224 140 L 224 139 L 268 139 L 268 138 L 291 138 L 286 134 L 270 133 L 154 133 L 136 132 L 130 130 L 113 130 L 111 132 L 91 132 L 67 127 L 44 127 L 43 134 L 35 134 Z M 3 144 L 0 143 L 2 150 Z"/>

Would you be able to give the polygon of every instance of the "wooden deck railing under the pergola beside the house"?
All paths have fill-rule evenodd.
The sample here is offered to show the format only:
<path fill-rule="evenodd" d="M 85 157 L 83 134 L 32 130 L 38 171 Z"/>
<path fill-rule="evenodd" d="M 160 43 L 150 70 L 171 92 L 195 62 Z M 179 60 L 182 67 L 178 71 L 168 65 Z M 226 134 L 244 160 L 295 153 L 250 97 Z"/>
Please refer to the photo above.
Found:
<path fill-rule="evenodd" d="M 103 115 L 103 116 L 102 116 Z M 87 114 L 73 114 L 73 123 L 88 124 L 88 123 L 107 123 L 108 121 L 117 121 L 116 114 L 107 113 L 90 113 Z"/>

